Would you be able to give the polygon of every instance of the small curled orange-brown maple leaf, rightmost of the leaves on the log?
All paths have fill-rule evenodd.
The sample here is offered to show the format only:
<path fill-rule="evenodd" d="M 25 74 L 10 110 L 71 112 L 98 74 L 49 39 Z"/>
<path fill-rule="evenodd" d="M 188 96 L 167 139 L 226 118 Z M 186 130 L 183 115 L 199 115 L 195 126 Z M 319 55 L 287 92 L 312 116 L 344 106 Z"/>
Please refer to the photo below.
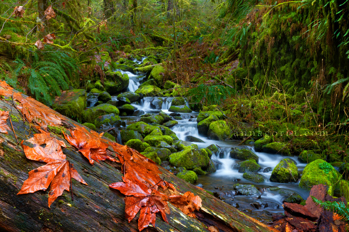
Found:
<path fill-rule="evenodd" d="M 169 196 L 169 202 L 177 206 L 186 215 L 196 217 L 193 212 L 200 209 L 202 200 L 199 196 L 194 196 L 194 193 L 188 191 L 182 196 Z"/>

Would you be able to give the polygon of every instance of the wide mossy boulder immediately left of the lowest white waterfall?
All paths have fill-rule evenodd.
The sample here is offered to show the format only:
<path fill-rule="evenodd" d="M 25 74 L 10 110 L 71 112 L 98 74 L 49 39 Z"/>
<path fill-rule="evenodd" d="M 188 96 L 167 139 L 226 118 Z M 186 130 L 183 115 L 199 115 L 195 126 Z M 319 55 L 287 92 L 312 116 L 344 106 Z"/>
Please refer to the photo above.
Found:
<path fill-rule="evenodd" d="M 205 149 L 187 147 L 183 151 L 170 155 L 170 163 L 176 167 L 185 167 L 188 170 L 194 168 L 206 168 L 209 162 Z"/>

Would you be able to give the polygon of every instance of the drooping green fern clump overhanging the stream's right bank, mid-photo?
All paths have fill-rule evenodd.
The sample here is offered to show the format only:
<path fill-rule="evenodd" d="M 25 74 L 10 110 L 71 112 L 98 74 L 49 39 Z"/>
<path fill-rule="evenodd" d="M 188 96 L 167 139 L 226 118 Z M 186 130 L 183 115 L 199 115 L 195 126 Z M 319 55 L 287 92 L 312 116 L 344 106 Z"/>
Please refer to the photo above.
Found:
<path fill-rule="evenodd" d="M 221 104 L 225 99 L 232 97 L 235 89 L 222 85 L 200 84 L 188 91 L 190 102 L 202 103 L 204 105 Z"/>

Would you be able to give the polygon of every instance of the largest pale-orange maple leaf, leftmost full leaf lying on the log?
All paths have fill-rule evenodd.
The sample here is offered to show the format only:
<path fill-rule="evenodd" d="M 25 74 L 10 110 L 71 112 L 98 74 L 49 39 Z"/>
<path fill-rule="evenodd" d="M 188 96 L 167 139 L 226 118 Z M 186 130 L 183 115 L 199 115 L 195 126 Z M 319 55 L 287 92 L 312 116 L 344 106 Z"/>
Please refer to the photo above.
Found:
<path fill-rule="evenodd" d="M 48 192 L 48 207 L 50 207 L 57 197 L 62 195 L 64 190 L 69 191 L 71 178 L 87 185 L 73 164 L 65 159 L 61 148 L 61 146 L 65 147 L 63 141 L 51 137 L 46 132 L 34 134 L 33 138 L 27 140 L 34 147 L 23 145 L 23 142 L 21 145 L 28 159 L 46 162 L 47 164 L 29 172 L 28 179 L 24 181 L 17 195 L 46 190 L 51 184 Z M 46 144 L 45 148 L 41 146 L 43 144 Z"/>

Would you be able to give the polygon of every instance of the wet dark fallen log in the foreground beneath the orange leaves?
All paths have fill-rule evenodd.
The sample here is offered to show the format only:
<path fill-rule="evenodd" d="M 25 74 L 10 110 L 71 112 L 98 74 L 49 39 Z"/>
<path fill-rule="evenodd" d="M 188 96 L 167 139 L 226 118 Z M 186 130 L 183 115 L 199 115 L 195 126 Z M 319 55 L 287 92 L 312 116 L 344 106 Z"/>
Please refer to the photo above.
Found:
<path fill-rule="evenodd" d="M 11 106 L 12 101 L 0 99 L 1 110 L 10 111 L 16 137 L 20 143 L 38 133 L 33 124 L 23 122 L 23 116 Z M 62 127 L 48 127 L 51 135 L 63 138 L 62 130 L 75 127 L 77 122 L 68 118 Z M 9 120 L 7 120 L 11 128 Z M 89 129 L 88 129 L 89 130 Z M 130 223 L 125 218 L 124 195 L 118 190 L 109 188 L 109 184 L 122 181 L 120 164 L 110 161 L 95 162 L 92 166 L 86 158 L 71 147 L 65 140 L 67 148 L 63 153 L 77 169 L 88 186 L 72 180 L 74 199 L 71 193 L 63 195 L 48 208 L 48 190 L 16 195 L 28 178 L 28 172 L 44 165 L 25 157 L 22 147 L 16 142 L 14 131 L 0 133 L 0 231 L 5 232 L 58 232 L 58 231 L 138 231 L 137 219 Z M 113 152 L 108 150 L 110 155 Z M 161 168 L 160 168 L 161 169 Z M 162 170 L 162 177 L 172 182 L 181 192 L 191 191 L 199 195 L 203 202 L 197 218 L 184 215 L 171 203 L 169 224 L 158 215 L 155 225 L 143 231 L 205 231 L 215 226 L 224 232 L 276 232 L 276 230 L 246 216 L 236 208 L 218 200 L 204 190 L 196 188 Z M 139 214 L 138 214 L 139 215 Z"/>

